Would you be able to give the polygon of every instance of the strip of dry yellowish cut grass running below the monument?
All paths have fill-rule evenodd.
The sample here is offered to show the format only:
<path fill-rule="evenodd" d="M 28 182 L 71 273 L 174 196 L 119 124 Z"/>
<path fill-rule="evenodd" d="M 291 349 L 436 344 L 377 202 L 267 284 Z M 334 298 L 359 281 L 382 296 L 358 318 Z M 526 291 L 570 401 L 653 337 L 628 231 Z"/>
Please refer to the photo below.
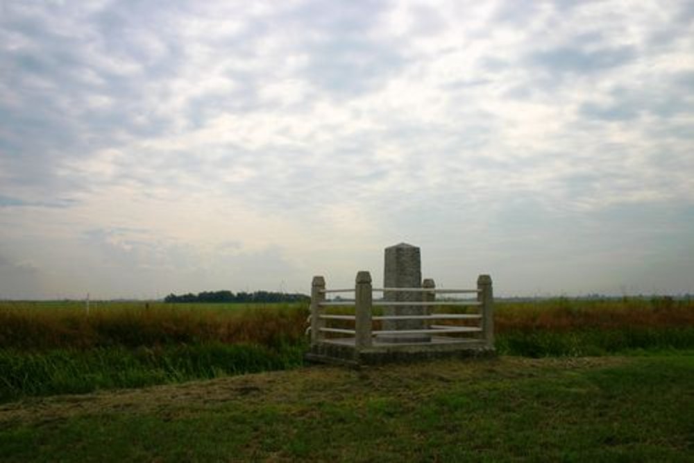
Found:
<path fill-rule="evenodd" d="M 429 396 L 441 389 L 492 378 L 532 378 L 567 371 L 611 367 L 628 357 L 438 360 L 358 370 L 312 366 L 215 380 L 93 394 L 27 398 L 0 405 L 0 426 L 54 423 L 71 416 L 155 413 L 167 417 L 233 402 L 321 403 L 370 394 Z"/>

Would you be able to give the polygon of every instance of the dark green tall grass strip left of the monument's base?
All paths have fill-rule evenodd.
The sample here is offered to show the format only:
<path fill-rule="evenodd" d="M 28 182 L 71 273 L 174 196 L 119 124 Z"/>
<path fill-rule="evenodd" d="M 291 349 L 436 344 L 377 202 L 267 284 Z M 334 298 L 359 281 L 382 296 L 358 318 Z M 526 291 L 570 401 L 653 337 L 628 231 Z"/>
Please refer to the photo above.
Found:
<path fill-rule="evenodd" d="M 304 352 L 303 344 L 220 343 L 29 353 L 1 349 L 0 402 L 289 369 L 303 364 Z"/>

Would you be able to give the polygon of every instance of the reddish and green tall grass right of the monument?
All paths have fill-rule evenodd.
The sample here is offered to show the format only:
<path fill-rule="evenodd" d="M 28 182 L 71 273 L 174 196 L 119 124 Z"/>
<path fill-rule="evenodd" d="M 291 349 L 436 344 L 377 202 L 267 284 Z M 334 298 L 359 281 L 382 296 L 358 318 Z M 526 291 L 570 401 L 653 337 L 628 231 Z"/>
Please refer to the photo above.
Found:
<path fill-rule="evenodd" d="M 694 303 L 670 297 L 499 303 L 502 355 L 584 356 L 694 348 Z"/>

